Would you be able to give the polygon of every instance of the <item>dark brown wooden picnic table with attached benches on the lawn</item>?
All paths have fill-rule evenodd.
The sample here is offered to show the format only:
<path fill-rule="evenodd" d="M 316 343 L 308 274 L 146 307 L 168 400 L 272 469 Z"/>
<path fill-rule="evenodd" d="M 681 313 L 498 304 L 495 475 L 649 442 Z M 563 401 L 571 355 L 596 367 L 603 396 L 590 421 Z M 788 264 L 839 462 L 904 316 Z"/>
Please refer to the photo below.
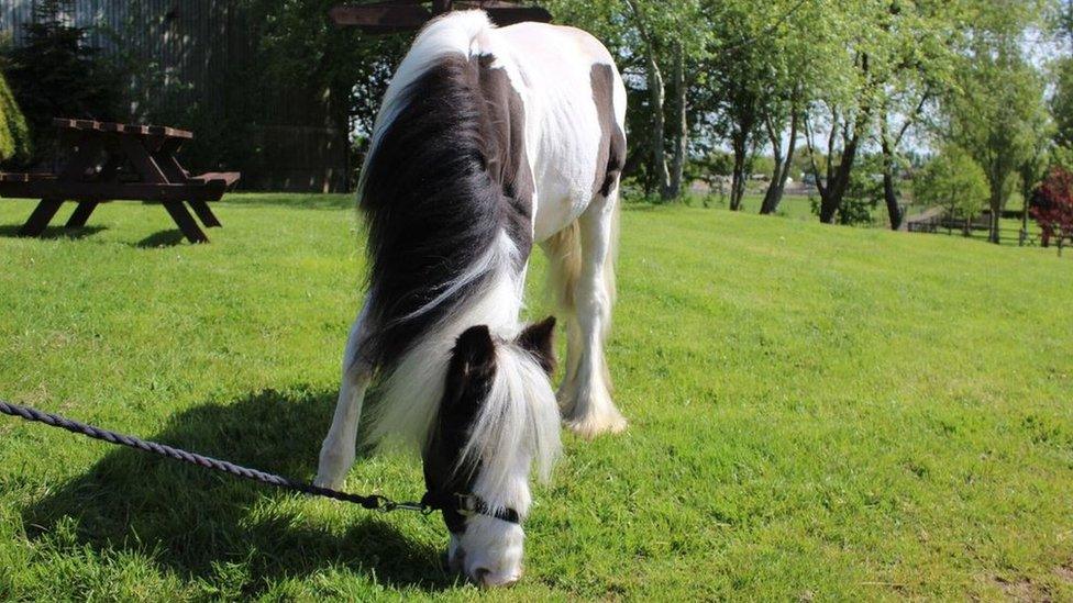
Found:
<path fill-rule="evenodd" d="M 90 120 L 57 119 L 60 141 L 70 153 L 55 174 L 0 172 L 0 197 L 41 199 L 19 233 L 40 236 L 65 201 L 78 206 L 66 227 L 80 228 L 102 202 L 132 200 L 159 202 L 190 243 L 209 237 L 187 210 L 206 227 L 221 226 L 209 209 L 239 180 L 239 172 L 190 176 L 175 154 L 193 137 L 185 130 Z"/>

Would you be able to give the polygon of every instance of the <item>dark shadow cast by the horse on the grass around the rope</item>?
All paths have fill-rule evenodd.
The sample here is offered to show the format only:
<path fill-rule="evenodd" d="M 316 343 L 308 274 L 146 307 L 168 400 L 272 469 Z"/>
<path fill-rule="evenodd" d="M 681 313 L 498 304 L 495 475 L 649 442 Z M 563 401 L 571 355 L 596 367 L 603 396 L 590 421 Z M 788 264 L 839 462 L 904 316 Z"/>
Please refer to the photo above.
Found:
<path fill-rule="evenodd" d="M 264 391 L 175 416 L 150 439 L 295 479 L 311 479 L 335 393 Z M 329 568 L 365 572 L 390 587 L 441 590 L 455 583 L 440 551 L 414 543 L 389 517 L 361 513 L 342 531 L 313 526 L 291 494 L 126 448 L 109 453 L 23 513 L 31 537 L 77 526 L 73 550 L 137 551 L 209 584 L 231 562 L 246 566 L 243 594 Z M 269 504 L 265 504 L 266 499 Z M 70 517 L 71 520 L 68 520 Z M 431 520 L 430 520 L 431 521 Z"/>

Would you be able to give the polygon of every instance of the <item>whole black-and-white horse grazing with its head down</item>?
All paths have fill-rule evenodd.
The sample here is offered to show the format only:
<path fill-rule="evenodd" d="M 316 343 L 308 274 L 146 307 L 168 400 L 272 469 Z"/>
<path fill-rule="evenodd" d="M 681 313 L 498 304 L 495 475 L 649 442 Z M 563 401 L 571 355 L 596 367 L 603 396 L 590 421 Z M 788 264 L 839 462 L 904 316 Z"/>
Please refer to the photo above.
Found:
<path fill-rule="evenodd" d="M 451 567 L 483 585 L 521 577 L 529 473 L 546 479 L 560 421 L 584 437 L 626 428 L 604 355 L 624 118 L 626 88 L 596 38 L 466 11 L 418 34 L 376 120 L 358 185 L 368 289 L 317 482 L 343 482 L 379 375 L 369 437 L 420 446 L 427 499 L 484 511 L 444 511 Z M 557 401 L 555 321 L 519 322 L 533 244 L 566 320 Z"/>

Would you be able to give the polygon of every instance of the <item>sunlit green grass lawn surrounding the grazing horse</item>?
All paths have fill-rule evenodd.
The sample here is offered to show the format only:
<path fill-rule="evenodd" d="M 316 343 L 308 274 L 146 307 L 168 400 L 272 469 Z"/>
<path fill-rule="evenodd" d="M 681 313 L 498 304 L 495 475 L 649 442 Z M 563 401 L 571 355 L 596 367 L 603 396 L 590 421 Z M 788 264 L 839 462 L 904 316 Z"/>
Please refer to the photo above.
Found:
<path fill-rule="evenodd" d="M 231 196 L 191 246 L 134 203 L 21 239 L 32 205 L 0 202 L 0 398 L 311 479 L 350 205 Z M 619 276 L 630 429 L 564 434 L 515 589 L 441 570 L 438 517 L 0 417 L 0 600 L 1073 599 L 1073 257 L 630 205 Z M 347 489 L 418 496 L 420 464 L 364 457 Z"/>

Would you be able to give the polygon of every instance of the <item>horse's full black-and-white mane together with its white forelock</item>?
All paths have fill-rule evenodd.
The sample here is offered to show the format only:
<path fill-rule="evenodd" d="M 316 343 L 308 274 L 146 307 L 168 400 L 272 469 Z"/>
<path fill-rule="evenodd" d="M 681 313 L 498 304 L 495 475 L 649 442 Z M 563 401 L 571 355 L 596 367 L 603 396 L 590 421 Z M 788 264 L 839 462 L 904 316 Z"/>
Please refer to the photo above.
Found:
<path fill-rule="evenodd" d="M 374 440 L 401 435 L 423 442 L 452 346 L 465 328 L 486 324 L 501 337 L 518 330 L 532 248 L 532 176 L 521 100 L 482 47 L 491 29 L 477 11 L 427 26 L 397 70 L 374 129 L 359 186 L 372 265 L 366 303 L 376 325 L 366 353 L 386 377 L 384 398 L 372 409 Z M 502 387 L 487 407 L 509 418 L 483 422 L 473 445 L 501 450 L 502 435 L 524 437 L 546 467 L 558 437 L 546 377 L 517 346 L 501 353 L 511 359 L 500 362 Z M 527 390 L 549 395 L 534 404 Z M 510 462 L 509 455 L 498 456 Z"/>

